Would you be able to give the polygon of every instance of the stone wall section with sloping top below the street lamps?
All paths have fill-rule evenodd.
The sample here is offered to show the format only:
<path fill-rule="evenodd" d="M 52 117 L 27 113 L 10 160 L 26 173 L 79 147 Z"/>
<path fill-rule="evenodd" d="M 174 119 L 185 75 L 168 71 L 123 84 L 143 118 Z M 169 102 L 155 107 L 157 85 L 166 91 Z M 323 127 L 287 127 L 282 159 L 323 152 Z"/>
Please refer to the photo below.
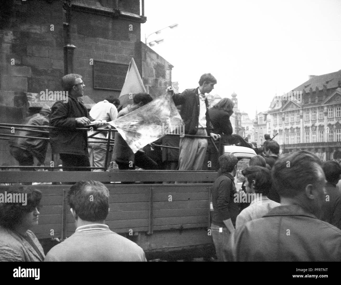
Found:
<path fill-rule="evenodd" d="M 162 95 L 172 86 L 173 66 L 142 43 L 142 80 L 151 97 Z"/>

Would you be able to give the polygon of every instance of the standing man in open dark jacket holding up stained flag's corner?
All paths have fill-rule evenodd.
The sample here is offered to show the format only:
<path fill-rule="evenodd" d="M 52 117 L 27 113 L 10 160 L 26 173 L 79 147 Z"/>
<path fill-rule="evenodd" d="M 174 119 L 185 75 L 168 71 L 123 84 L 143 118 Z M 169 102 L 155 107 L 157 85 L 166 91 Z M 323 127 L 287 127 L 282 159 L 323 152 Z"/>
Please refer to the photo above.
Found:
<path fill-rule="evenodd" d="M 205 93 L 213 90 L 217 80 L 211 73 L 200 77 L 199 87 L 186 89 L 182 94 L 174 94 L 172 87 L 167 93 L 173 95 L 175 105 L 182 105 L 180 115 L 185 124 L 185 134 L 209 136 L 216 141 L 218 135 L 213 133 L 213 126 L 208 114 L 208 101 Z M 179 170 L 202 170 L 207 150 L 207 138 L 180 138 Z"/>

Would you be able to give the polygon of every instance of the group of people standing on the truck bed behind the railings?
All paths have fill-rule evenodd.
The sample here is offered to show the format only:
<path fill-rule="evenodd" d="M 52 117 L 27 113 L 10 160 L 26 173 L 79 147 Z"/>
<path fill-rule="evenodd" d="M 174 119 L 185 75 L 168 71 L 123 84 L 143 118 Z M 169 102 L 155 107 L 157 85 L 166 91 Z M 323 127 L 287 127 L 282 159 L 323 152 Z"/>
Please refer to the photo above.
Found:
<path fill-rule="evenodd" d="M 35 137 L 35 139 L 13 138 L 10 153 L 20 166 L 33 166 L 34 158 L 39 160 L 38 165 L 43 166 L 48 141 L 39 140 L 39 137 L 49 137 L 52 153 L 59 154 L 64 171 L 90 171 L 89 167 L 97 167 L 93 171 L 103 171 L 112 160 L 111 158 L 120 170 L 135 169 L 135 167 L 147 170 L 202 170 L 204 166 L 204 169 L 217 171 L 219 154 L 222 154 L 224 145 L 236 144 L 251 147 L 255 151 L 259 150 L 239 135 L 232 133 L 229 118 L 233 114 L 234 103 L 231 99 L 224 98 L 209 108 L 205 94 L 212 91 L 216 83 L 214 76 L 206 73 L 200 77 L 197 88 L 186 89 L 181 94 L 174 94 L 171 87 L 167 88 L 169 96 L 172 96 L 174 103 L 179 106 L 180 115 L 184 121 L 184 134 L 196 137 L 165 136 L 158 144 L 164 143 L 165 146 L 179 147 L 179 150 L 162 148 L 162 152 L 161 150 L 158 152 L 160 157 L 155 157 L 157 152 L 151 154 L 147 151 L 146 153 L 147 146 L 134 154 L 119 133 L 111 132 L 111 138 L 115 139 L 115 143 L 114 147 L 110 146 L 107 165 L 105 165 L 109 132 L 96 132 L 95 129 L 87 132 L 77 128 L 103 126 L 106 122 L 148 104 L 152 98 L 149 94 L 134 94 L 133 104 L 118 112 L 119 100 L 114 96 L 108 96 L 105 100 L 95 104 L 88 112 L 81 100 L 85 87 L 82 76 L 67 74 L 62 77 L 62 88 L 68 92 L 68 101 L 57 101 L 51 109 L 44 107 L 39 114 L 28 117 L 24 122 L 31 126 L 46 125 L 56 128 L 46 130 L 36 128 L 37 131 L 35 131 L 32 127 L 31 132 L 19 133 L 18 135 Z M 35 132 L 32 133 L 32 131 Z M 211 139 L 207 139 L 209 137 Z M 217 143 L 218 139 L 219 143 Z M 219 152 L 216 151 L 214 144 L 218 145 Z M 262 149 L 259 152 L 262 152 Z M 211 162 L 209 167 L 207 167 L 207 161 Z M 21 170 L 34 170 L 34 168 Z"/>

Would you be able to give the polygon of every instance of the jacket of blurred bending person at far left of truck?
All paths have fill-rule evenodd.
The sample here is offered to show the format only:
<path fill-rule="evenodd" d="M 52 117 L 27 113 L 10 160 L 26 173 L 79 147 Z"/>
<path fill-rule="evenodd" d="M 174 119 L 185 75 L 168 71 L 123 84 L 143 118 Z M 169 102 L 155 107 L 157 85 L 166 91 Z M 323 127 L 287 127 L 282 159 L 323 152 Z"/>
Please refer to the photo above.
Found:
<path fill-rule="evenodd" d="M 34 126 L 48 126 L 48 119 L 41 114 L 34 114 L 33 116 L 25 119 L 24 125 Z M 48 131 L 48 129 L 34 128 L 32 130 Z M 32 131 L 18 131 L 15 133 L 18 136 L 48 138 L 48 133 L 32 132 Z M 40 163 L 44 163 L 48 140 L 29 139 L 29 138 L 14 138 L 10 141 L 10 146 L 25 149 L 35 156 Z"/>

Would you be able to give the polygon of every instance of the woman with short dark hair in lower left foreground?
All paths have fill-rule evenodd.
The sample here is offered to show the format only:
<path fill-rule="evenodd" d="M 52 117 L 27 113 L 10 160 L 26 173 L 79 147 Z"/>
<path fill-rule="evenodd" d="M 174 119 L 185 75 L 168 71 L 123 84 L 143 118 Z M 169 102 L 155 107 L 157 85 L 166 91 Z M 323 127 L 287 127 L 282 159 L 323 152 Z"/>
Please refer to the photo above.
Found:
<path fill-rule="evenodd" d="M 43 261 L 43 248 L 30 230 L 38 225 L 42 193 L 28 187 L 8 187 L 4 195 L 12 202 L 0 203 L 0 261 Z"/>

